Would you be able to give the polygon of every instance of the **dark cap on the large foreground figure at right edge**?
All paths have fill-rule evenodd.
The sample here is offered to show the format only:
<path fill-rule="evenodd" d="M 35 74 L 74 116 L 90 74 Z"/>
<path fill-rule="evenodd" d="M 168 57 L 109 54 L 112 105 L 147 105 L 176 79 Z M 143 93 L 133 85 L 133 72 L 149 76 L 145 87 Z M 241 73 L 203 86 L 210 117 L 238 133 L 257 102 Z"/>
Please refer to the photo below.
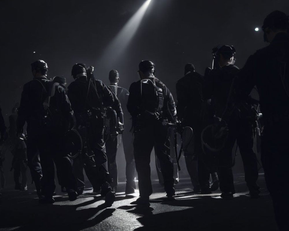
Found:
<path fill-rule="evenodd" d="M 279 10 L 275 10 L 266 16 L 262 25 L 262 30 L 264 31 L 264 42 L 268 42 L 268 38 L 266 36 L 266 28 L 270 28 L 273 31 L 278 29 L 287 30 L 287 33 L 289 33 L 288 16 Z"/>

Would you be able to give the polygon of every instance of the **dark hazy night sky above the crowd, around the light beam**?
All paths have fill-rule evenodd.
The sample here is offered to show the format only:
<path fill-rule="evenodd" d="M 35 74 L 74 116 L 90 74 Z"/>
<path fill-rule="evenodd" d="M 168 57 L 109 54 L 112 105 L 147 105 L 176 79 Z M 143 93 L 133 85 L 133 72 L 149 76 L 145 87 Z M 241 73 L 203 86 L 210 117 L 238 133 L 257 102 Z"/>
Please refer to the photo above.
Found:
<path fill-rule="evenodd" d="M 29 3 L 28 3 L 29 2 Z M 114 63 L 99 66 L 105 48 L 144 0 L 3 1 L 1 3 L 0 105 L 4 114 L 19 102 L 32 79 L 30 64 L 43 59 L 48 77 L 64 75 L 70 83 L 76 62 L 96 66 L 97 79 L 120 73 L 120 86 L 138 79 L 138 63 L 150 59 L 157 77 L 175 93 L 175 83 L 191 62 L 203 74 L 217 44 L 236 48 L 236 65 L 266 44 L 262 26 L 273 10 L 289 13 L 288 0 L 152 0 L 134 38 Z M 33 52 L 36 53 L 33 53 Z M 113 54 L 112 54 L 113 55 Z"/>

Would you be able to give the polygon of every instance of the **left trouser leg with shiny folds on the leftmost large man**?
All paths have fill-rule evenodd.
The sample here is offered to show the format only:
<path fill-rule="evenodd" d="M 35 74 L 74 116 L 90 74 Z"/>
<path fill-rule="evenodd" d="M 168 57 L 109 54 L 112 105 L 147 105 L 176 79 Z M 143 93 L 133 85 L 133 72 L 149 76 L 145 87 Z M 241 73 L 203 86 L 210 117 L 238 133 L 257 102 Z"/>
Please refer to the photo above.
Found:
<path fill-rule="evenodd" d="M 40 165 L 39 150 L 36 140 L 27 141 L 27 161 L 32 180 L 35 183 L 36 190 L 40 190 L 40 179 L 42 178 L 42 169 Z"/>

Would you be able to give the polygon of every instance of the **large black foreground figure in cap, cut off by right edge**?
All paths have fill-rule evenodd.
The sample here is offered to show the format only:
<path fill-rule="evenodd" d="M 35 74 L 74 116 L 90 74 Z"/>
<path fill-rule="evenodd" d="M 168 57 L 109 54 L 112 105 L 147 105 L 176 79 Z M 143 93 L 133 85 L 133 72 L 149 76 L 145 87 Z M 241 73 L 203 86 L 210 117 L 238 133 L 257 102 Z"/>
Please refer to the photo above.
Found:
<path fill-rule="evenodd" d="M 269 14 L 263 29 L 289 29 L 288 16 Z M 260 95 L 264 131 L 261 159 L 267 188 L 280 230 L 289 230 L 289 34 L 277 33 L 270 45 L 251 55 L 234 81 L 237 96 L 245 99 L 256 85 Z M 271 33 L 273 33 L 271 31 Z M 264 33 L 265 40 L 266 33 Z"/>

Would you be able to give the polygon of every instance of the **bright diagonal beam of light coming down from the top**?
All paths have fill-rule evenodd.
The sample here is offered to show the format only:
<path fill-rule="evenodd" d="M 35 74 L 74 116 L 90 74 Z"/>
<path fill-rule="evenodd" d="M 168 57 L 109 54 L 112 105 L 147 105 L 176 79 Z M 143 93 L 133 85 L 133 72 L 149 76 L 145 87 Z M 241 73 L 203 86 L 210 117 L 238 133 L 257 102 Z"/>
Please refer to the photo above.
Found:
<path fill-rule="evenodd" d="M 134 37 L 150 2 L 151 0 L 145 1 L 138 9 L 138 11 L 123 26 L 121 31 L 118 32 L 116 37 L 104 50 L 103 55 L 101 55 L 98 63 L 101 62 L 105 64 L 105 66 L 110 66 L 109 64 L 113 64 L 117 59 L 120 58 L 121 54 L 127 48 L 129 42 Z M 99 67 L 101 66 L 103 65 L 99 65 Z"/>

